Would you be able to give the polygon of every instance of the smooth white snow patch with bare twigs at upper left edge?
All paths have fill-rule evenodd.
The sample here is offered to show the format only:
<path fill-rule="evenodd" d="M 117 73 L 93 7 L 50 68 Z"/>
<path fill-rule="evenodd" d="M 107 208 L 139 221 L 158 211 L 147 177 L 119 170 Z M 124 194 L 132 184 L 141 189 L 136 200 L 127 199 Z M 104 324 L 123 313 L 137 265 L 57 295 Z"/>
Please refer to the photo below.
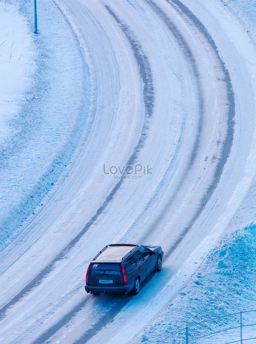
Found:
<path fill-rule="evenodd" d="M 36 69 L 32 34 L 17 7 L 7 1 L 0 3 L 1 147 L 10 134 L 15 134 L 9 121 L 26 100 L 24 93 L 32 86 L 31 75 Z"/>

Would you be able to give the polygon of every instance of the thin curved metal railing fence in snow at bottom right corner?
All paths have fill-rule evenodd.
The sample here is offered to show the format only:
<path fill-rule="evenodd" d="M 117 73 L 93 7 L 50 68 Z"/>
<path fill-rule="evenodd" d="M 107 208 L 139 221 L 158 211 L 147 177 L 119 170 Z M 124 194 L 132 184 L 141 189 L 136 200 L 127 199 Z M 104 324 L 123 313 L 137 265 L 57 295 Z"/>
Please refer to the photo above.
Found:
<path fill-rule="evenodd" d="M 221 330 L 218 328 L 221 327 Z M 211 318 L 172 332 L 156 342 L 166 344 L 253 344 L 256 341 L 256 310 Z"/>

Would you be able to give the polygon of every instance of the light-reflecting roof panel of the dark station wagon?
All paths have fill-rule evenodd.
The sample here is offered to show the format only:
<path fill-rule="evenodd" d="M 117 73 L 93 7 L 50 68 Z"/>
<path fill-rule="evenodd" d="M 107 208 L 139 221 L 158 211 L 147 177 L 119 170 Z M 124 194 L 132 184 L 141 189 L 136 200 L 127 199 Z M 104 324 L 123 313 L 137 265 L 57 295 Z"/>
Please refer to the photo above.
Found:
<path fill-rule="evenodd" d="M 93 259 L 93 262 L 117 262 L 122 261 L 130 251 L 139 245 L 134 244 L 111 244 L 105 246 Z"/>

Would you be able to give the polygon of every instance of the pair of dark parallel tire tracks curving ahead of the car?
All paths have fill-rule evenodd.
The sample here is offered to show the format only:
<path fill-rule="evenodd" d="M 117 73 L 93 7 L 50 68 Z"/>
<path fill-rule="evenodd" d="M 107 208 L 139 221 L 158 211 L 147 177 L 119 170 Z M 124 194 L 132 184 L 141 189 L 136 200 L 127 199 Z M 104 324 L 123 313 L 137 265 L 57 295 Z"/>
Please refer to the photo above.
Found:
<path fill-rule="evenodd" d="M 231 83 L 229 71 L 226 69 L 225 64 L 219 55 L 217 46 L 216 46 L 215 42 L 213 41 L 210 33 L 207 31 L 205 26 L 199 21 L 199 19 L 191 11 L 189 11 L 189 9 L 181 1 L 179 1 L 179 0 L 173 0 L 173 1 L 165 0 L 165 1 L 168 2 L 169 4 L 171 4 L 171 6 L 176 11 L 178 11 L 183 17 L 186 16 L 187 18 L 190 19 L 191 22 L 193 22 L 193 24 L 196 26 L 196 28 L 199 30 L 199 32 L 202 34 L 202 36 L 205 37 L 208 44 L 212 47 L 213 51 L 216 53 L 216 57 L 218 58 L 222 72 L 225 75 L 225 78 L 222 80 L 226 84 L 226 95 L 227 95 L 227 99 L 228 99 L 228 104 L 227 104 L 228 105 L 228 111 L 227 111 L 228 120 L 227 120 L 226 138 L 224 140 L 223 148 L 221 150 L 221 157 L 219 158 L 219 161 L 218 161 L 217 166 L 216 166 L 216 170 L 215 170 L 214 175 L 213 175 L 212 183 L 208 186 L 208 188 L 205 192 L 205 195 L 201 198 L 201 201 L 199 203 L 199 209 L 196 212 L 196 214 L 193 216 L 193 218 L 190 220 L 188 226 L 184 228 L 183 232 L 179 235 L 178 239 L 174 242 L 172 247 L 167 252 L 165 252 L 165 257 L 168 257 L 177 248 L 178 244 L 181 243 L 182 239 L 185 237 L 185 235 L 189 232 L 189 230 L 194 225 L 196 220 L 199 218 L 199 216 L 201 215 L 207 202 L 211 198 L 214 190 L 218 186 L 224 165 L 225 165 L 225 163 L 229 157 L 231 147 L 233 144 L 234 125 L 235 125 L 235 120 L 234 120 L 234 118 L 235 118 L 235 100 L 234 100 L 234 93 L 233 93 L 233 88 L 232 88 L 232 83 Z M 189 49 L 188 44 L 186 43 L 186 41 L 182 37 L 182 35 L 177 31 L 177 29 L 174 26 L 174 24 L 172 23 L 171 19 L 168 18 L 167 15 L 154 2 L 152 2 L 151 0 L 148 0 L 147 3 L 149 3 L 150 6 L 160 15 L 160 17 L 163 19 L 163 21 L 166 24 L 166 26 L 168 27 L 168 29 L 172 32 L 172 34 L 178 40 L 182 50 L 184 50 L 185 56 L 187 56 L 190 59 L 190 63 L 193 66 L 193 70 L 194 70 L 194 73 L 196 76 L 197 86 L 198 86 L 198 89 L 200 90 L 199 94 L 201 95 L 201 85 L 200 85 L 199 75 L 197 72 L 196 62 L 195 62 L 195 59 L 194 59 L 194 57 L 193 57 L 193 55 Z M 200 99 L 200 109 L 199 109 L 199 113 L 200 113 L 199 130 L 201 132 L 202 127 L 200 126 L 200 123 L 202 123 L 202 119 L 203 119 L 203 100 L 202 100 L 202 96 L 200 96 L 200 98 L 201 99 Z M 162 218 L 162 214 L 166 213 L 168 208 L 174 202 L 175 197 L 177 196 L 179 190 L 181 189 L 181 186 L 183 184 L 183 180 L 187 177 L 187 174 L 188 174 L 189 170 L 191 169 L 191 167 L 195 161 L 196 153 L 197 153 L 198 148 L 199 148 L 199 140 L 200 140 L 200 135 L 198 135 L 198 133 L 197 133 L 196 141 L 194 143 L 193 152 L 191 154 L 190 161 L 189 161 L 188 166 L 187 166 L 187 170 L 184 173 L 184 175 L 181 179 L 181 182 L 178 184 L 176 191 L 172 197 L 172 200 L 170 201 L 170 203 L 168 203 L 164 207 L 161 215 L 158 216 L 158 218 L 155 220 L 153 225 L 148 230 L 147 234 L 144 236 L 144 238 L 143 238 L 144 240 L 147 238 L 147 236 L 153 230 L 153 228 L 156 227 L 160 223 L 161 218 Z"/>

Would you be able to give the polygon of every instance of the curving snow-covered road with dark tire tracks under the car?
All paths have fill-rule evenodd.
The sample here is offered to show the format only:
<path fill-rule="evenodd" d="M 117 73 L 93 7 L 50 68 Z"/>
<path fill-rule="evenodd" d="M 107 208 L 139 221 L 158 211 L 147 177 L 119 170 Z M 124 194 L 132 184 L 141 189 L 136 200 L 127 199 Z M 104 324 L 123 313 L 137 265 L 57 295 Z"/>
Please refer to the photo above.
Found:
<path fill-rule="evenodd" d="M 2 251 L 0 341 L 127 343 L 186 283 L 254 177 L 255 50 L 220 1 L 51 6 L 79 42 L 88 116 L 44 206 Z M 104 164 L 146 172 L 116 179 Z M 89 261 L 115 242 L 161 245 L 161 273 L 136 296 L 87 295 Z"/>

